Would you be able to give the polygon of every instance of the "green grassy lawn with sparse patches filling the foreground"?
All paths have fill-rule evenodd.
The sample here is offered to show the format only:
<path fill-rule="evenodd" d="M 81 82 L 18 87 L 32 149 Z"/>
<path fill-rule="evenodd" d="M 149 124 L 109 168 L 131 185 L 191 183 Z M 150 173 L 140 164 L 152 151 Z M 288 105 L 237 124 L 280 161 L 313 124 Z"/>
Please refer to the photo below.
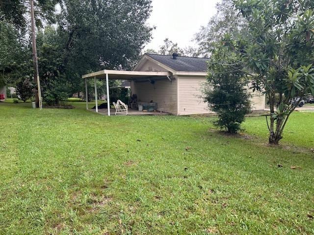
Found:
<path fill-rule="evenodd" d="M 314 234 L 314 113 L 270 147 L 264 118 L 233 137 L 73 105 L 0 103 L 0 234 Z"/>

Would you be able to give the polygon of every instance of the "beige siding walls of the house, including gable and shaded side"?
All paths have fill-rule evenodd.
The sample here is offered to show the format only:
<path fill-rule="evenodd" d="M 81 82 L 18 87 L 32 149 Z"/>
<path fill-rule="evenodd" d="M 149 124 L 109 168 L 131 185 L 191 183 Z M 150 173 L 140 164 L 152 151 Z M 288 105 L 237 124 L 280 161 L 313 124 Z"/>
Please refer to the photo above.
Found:
<path fill-rule="evenodd" d="M 167 71 L 156 63 L 146 60 L 135 71 Z M 201 76 L 175 76 L 172 83 L 168 79 L 156 80 L 155 84 L 131 82 L 131 93 L 137 94 L 138 101 L 157 102 L 158 110 L 174 115 L 208 114 L 208 104 L 200 97 L 202 84 L 206 82 Z M 264 110 L 265 96 L 253 93 L 252 109 Z"/>

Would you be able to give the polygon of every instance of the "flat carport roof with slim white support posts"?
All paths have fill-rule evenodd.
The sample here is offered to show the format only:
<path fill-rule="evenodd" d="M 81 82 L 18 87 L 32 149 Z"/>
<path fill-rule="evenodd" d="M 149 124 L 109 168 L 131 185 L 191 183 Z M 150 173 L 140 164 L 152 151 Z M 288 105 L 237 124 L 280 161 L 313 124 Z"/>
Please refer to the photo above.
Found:
<path fill-rule="evenodd" d="M 95 101 L 96 113 L 98 113 L 98 96 L 97 96 L 97 79 L 106 79 L 106 93 L 107 93 L 107 109 L 108 116 L 110 116 L 110 100 L 109 100 L 109 79 L 114 80 L 132 80 L 132 81 L 151 81 L 157 79 L 167 78 L 171 81 L 172 74 L 170 72 L 151 72 L 151 71 L 116 71 L 116 70 L 102 70 L 92 72 L 82 76 L 85 79 L 85 93 L 86 93 L 86 110 L 88 110 L 88 91 L 87 79 L 94 78 L 95 85 Z"/>

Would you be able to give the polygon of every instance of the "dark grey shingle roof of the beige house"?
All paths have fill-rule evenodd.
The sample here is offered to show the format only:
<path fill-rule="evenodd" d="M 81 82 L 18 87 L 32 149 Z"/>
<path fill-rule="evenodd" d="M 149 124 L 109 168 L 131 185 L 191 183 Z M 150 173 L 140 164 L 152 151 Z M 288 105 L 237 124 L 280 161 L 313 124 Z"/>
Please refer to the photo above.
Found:
<path fill-rule="evenodd" d="M 174 59 L 172 55 L 146 55 L 175 71 L 206 72 L 208 70 L 209 58 L 178 56 Z"/>

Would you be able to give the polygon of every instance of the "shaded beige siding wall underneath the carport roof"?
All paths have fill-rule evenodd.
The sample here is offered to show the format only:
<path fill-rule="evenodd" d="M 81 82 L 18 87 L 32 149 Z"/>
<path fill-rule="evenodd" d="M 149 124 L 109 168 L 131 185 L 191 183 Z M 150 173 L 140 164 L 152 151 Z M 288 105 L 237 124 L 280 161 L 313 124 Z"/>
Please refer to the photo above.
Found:
<path fill-rule="evenodd" d="M 157 110 L 177 115 L 177 79 L 170 82 L 168 79 L 149 81 L 132 81 L 131 92 L 137 95 L 141 102 L 157 103 Z"/>

